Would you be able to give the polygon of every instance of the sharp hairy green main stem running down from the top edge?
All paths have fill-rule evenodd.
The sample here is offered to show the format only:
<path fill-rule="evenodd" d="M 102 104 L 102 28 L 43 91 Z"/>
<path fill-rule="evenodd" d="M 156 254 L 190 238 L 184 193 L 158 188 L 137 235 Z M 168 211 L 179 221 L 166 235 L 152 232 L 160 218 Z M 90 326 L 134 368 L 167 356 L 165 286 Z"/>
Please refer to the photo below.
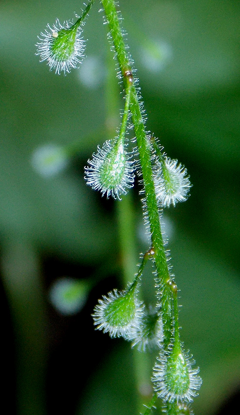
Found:
<path fill-rule="evenodd" d="M 125 89 L 129 83 L 132 82 L 132 70 L 129 62 L 129 56 L 126 52 L 126 46 L 123 40 L 122 31 L 119 24 L 119 16 L 115 7 L 114 0 L 102 0 L 107 21 L 110 28 L 113 45 L 116 51 L 116 57 L 120 65 L 121 73 Z M 151 232 L 152 249 L 155 251 L 155 266 L 157 271 L 157 288 L 158 296 L 161 296 L 162 303 L 162 317 L 163 329 L 165 338 L 165 348 L 167 349 L 172 335 L 172 290 L 168 284 L 170 280 L 166 253 L 164 249 L 164 242 L 161 232 L 159 220 L 159 207 L 157 204 L 155 187 L 151 168 L 151 144 L 145 130 L 143 119 L 143 106 L 139 103 L 139 97 L 134 85 L 134 80 L 131 86 L 130 111 L 134 131 L 136 135 L 139 158 L 141 164 L 141 172 L 143 176 L 143 183 L 146 198 L 144 200 L 144 207 L 146 206 L 148 222 Z"/>

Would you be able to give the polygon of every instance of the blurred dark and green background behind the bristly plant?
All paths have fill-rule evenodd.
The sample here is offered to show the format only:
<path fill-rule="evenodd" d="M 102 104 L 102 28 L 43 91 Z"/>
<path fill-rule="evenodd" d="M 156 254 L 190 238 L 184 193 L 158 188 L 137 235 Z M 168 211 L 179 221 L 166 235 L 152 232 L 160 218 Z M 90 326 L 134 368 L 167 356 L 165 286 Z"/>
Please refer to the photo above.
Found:
<path fill-rule="evenodd" d="M 120 6 L 147 127 L 187 167 L 193 184 L 190 199 L 167 210 L 164 221 L 181 289 L 181 335 L 203 377 L 194 412 L 228 414 L 240 387 L 240 3 Z M 99 2 L 84 27 L 88 58 L 80 69 L 56 76 L 35 56 L 46 24 L 72 19 L 81 7 L 76 0 L 0 2 L 3 392 L 11 397 L 8 412 L 19 415 L 137 413 L 133 352 L 95 332 L 91 318 L 97 299 L 123 286 L 118 203 L 83 179 L 87 159 L 119 124 L 109 115 L 112 55 Z M 46 178 L 34 170 L 37 147 L 72 143 L 77 151 L 60 174 Z M 137 186 L 130 197 L 138 261 L 148 244 Z M 62 276 L 92 284 L 73 316 L 49 301 Z M 149 269 L 149 301 L 151 281 Z"/>

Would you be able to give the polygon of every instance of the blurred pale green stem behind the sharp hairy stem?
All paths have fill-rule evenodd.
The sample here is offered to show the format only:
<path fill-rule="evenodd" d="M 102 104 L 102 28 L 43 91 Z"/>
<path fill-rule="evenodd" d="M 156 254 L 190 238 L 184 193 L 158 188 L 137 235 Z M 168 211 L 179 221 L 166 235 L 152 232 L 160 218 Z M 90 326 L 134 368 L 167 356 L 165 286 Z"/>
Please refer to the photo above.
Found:
<path fill-rule="evenodd" d="M 115 77 L 115 63 L 109 51 L 108 60 L 108 76 L 106 87 L 106 112 L 107 112 L 107 131 L 108 139 L 111 140 L 116 133 L 119 123 L 119 85 Z M 125 103 L 126 106 L 126 103 Z M 123 120 L 122 120 L 123 121 Z M 121 201 L 115 202 L 116 216 L 118 222 L 118 239 L 120 251 L 120 264 L 123 287 L 126 287 L 132 281 L 136 273 L 137 252 L 135 249 L 135 214 L 133 206 L 132 192 L 129 192 Z M 133 376 L 136 382 L 137 390 L 137 413 L 143 412 L 143 405 L 146 404 L 151 391 L 150 363 L 147 353 L 140 353 L 136 348 L 132 350 L 133 359 Z M 147 392 L 147 393 L 146 393 Z"/>

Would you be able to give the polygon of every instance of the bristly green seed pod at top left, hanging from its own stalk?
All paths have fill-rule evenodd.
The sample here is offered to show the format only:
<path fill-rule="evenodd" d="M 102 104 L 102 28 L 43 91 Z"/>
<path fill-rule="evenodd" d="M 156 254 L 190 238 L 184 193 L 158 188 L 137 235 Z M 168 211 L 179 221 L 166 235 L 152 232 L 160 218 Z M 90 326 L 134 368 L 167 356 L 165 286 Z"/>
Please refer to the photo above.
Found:
<path fill-rule="evenodd" d="M 45 32 L 40 33 L 37 42 L 36 55 L 40 55 L 40 62 L 47 61 L 50 70 L 55 73 L 71 72 L 78 68 L 84 58 L 85 42 L 81 38 L 81 27 L 70 21 L 63 25 L 57 19 L 53 27 L 49 24 Z"/>

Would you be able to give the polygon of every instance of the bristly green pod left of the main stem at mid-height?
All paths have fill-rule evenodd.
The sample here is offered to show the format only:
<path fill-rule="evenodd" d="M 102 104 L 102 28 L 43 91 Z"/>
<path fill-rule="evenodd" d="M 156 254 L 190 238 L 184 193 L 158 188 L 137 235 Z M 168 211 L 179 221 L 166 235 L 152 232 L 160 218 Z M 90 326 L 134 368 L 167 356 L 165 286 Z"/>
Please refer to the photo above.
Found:
<path fill-rule="evenodd" d="M 85 179 L 94 190 L 100 190 L 102 196 L 112 196 L 120 200 L 120 195 L 127 194 L 133 186 L 133 163 L 129 160 L 124 145 L 119 141 L 106 141 L 102 148 L 98 146 L 93 153 L 90 166 L 85 167 Z"/>

